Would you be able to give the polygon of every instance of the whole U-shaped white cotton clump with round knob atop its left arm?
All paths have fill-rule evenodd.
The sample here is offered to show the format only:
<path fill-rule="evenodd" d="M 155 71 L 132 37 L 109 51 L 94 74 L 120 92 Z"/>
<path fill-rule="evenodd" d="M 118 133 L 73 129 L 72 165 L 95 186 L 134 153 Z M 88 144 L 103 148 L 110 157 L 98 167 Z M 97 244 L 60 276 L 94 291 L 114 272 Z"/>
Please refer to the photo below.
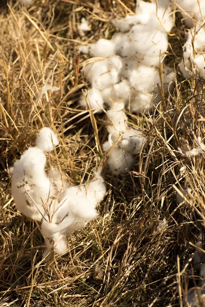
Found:
<path fill-rule="evenodd" d="M 86 186 L 69 186 L 56 168 L 45 171 L 45 152 L 58 145 L 57 135 L 50 128 L 43 128 L 36 137 L 36 146 L 29 147 L 10 169 L 11 193 L 16 209 L 42 222 L 46 253 L 63 254 L 67 236 L 83 228 L 97 217 L 96 206 L 106 193 L 100 172 Z"/>

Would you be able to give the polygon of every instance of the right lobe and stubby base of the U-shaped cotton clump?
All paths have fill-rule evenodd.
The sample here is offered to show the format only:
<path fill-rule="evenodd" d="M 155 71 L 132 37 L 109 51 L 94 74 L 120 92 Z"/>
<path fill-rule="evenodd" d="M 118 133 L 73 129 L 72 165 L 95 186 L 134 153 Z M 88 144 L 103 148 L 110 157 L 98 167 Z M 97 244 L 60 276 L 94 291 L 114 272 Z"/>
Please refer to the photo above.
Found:
<path fill-rule="evenodd" d="M 53 246 L 56 253 L 65 253 L 67 236 L 97 217 L 96 206 L 103 200 L 105 193 L 106 186 L 99 173 L 96 173 L 96 180 L 87 186 L 67 188 L 55 209 L 52 221 L 43 220 L 42 222 L 47 251 L 50 251 Z"/>

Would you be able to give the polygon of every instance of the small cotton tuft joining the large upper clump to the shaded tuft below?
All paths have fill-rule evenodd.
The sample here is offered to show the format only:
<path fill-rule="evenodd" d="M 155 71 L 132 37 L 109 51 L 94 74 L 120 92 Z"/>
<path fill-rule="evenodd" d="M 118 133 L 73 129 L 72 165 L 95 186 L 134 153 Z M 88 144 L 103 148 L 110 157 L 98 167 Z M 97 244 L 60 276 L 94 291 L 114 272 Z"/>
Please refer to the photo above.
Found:
<path fill-rule="evenodd" d="M 124 111 L 113 111 L 110 109 L 107 111 L 108 119 L 107 122 L 109 124 L 108 126 L 108 132 L 110 134 L 116 133 L 124 133 L 127 127 L 126 121 L 127 121 L 127 115 Z"/>

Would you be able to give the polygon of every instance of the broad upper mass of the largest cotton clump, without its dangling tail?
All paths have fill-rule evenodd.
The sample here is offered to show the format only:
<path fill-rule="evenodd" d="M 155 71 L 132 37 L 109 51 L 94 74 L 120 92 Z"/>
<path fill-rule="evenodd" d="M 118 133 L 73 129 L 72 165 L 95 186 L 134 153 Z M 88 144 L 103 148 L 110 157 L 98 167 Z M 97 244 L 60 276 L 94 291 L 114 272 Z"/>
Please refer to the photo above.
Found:
<path fill-rule="evenodd" d="M 121 32 L 115 33 L 110 40 L 101 38 L 89 47 L 80 47 L 81 51 L 93 57 L 87 61 L 84 75 L 91 83 L 91 89 L 99 90 L 104 103 L 109 107 L 111 101 L 121 103 L 123 100 L 126 105 L 131 99 L 134 100 L 131 111 L 143 111 L 148 107 L 147 104 L 151 104 L 152 95 L 158 94 L 153 93 L 153 87 L 155 84 L 156 89 L 157 83 L 160 83 L 157 68 L 162 55 L 168 49 L 167 32 L 173 27 L 171 9 L 167 1 L 157 4 L 140 0 L 134 15 L 114 19 L 113 23 L 118 25 Z M 127 30 L 125 25 L 128 26 Z M 164 92 L 167 93 L 169 83 L 174 80 L 174 73 L 165 66 L 164 70 L 163 86 L 166 87 Z M 133 87 L 131 75 L 134 74 L 138 92 L 142 92 L 136 99 L 136 91 L 130 91 Z M 140 86 L 145 82 L 148 82 L 146 91 L 143 88 L 141 91 Z M 80 104 L 81 101 L 80 98 Z"/>

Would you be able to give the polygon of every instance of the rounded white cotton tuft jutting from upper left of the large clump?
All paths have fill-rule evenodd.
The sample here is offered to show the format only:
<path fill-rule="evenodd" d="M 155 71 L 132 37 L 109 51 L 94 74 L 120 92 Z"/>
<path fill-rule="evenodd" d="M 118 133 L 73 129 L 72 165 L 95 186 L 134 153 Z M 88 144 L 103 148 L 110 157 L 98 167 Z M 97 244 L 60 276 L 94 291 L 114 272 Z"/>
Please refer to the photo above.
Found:
<path fill-rule="evenodd" d="M 115 54 L 115 46 L 112 40 L 101 38 L 89 48 L 93 57 L 109 57 Z"/>

